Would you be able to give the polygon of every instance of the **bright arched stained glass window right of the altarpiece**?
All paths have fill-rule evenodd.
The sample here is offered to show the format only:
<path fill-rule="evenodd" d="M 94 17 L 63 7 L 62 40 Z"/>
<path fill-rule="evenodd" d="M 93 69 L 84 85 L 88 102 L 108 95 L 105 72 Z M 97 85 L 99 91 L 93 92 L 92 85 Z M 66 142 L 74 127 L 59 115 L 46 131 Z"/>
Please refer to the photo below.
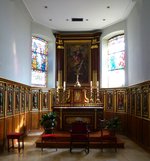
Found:
<path fill-rule="evenodd" d="M 102 86 L 125 86 L 125 41 L 124 34 L 107 40 L 107 52 L 103 55 L 105 65 L 102 66 Z M 105 83 L 103 83 L 105 81 Z"/>

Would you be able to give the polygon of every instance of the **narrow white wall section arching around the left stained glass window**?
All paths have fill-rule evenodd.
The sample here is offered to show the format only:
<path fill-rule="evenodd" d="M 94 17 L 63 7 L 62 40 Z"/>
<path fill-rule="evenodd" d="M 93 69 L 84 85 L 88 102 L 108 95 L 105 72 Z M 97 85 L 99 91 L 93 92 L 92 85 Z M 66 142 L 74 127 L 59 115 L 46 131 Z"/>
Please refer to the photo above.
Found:
<path fill-rule="evenodd" d="M 48 88 L 54 88 L 56 73 L 55 37 L 49 28 L 35 22 L 32 23 L 32 35 L 39 36 L 48 41 Z"/>

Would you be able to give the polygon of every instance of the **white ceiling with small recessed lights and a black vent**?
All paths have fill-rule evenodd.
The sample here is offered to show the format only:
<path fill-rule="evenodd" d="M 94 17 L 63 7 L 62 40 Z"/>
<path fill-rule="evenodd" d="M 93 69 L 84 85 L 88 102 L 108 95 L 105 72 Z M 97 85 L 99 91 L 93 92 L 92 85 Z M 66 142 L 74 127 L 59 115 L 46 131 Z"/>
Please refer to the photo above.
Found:
<path fill-rule="evenodd" d="M 100 30 L 124 20 L 135 0 L 23 0 L 33 20 L 54 31 Z M 72 18 L 83 18 L 72 22 Z"/>

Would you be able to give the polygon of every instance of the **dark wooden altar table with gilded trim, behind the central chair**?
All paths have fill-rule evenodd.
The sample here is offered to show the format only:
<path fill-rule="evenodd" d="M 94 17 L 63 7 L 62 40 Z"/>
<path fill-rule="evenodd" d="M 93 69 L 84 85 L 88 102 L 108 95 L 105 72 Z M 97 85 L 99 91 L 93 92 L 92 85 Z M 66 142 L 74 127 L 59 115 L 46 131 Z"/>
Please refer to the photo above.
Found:
<path fill-rule="evenodd" d="M 74 121 L 86 122 L 91 131 L 99 129 L 99 119 L 103 119 L 103 107 L 53 107 L 57 113 L 57 129 L 69 131 Z"/>

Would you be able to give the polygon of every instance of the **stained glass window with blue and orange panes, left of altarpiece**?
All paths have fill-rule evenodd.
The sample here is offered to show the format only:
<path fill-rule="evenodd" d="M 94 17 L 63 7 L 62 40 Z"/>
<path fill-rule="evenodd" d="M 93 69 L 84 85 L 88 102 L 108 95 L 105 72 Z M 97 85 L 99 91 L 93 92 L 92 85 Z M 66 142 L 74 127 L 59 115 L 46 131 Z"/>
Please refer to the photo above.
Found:
<path fill-rule="evenodd" d="M 32 37 L 32 78 L 34 86 L 46 86 L 48 70 L 48 42 Z"/>

